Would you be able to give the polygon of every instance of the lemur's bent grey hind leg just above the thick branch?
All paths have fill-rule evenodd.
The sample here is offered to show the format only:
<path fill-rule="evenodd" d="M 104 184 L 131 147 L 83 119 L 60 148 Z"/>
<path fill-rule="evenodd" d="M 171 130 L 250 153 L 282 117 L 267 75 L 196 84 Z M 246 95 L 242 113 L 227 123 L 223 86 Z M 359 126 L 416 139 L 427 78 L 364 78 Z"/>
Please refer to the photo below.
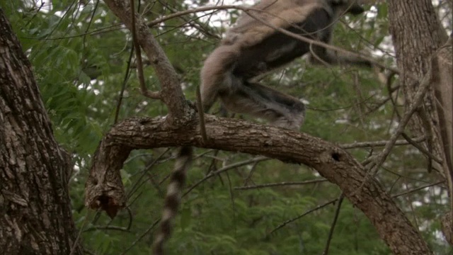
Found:
<path fill-rule="evenodd" d="M 245 81 L 230 91 L 221 91 L 219 97 L 229 111 L 265 118 L 280 128 L 298 130 L 304 122 L 304 103 L 258 83 Z"/>

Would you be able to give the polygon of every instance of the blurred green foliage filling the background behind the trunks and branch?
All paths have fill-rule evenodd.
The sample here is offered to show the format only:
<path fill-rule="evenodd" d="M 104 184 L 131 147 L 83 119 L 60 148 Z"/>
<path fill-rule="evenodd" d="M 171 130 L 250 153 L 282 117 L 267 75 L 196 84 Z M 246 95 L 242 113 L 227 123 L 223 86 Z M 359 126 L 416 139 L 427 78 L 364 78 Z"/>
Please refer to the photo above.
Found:
<path fill-rule="evenodd" d="M 222 4 L 207 0 L 136 3 L 147 21 L 188 8 Z M 433 4 L 451 30 L 447 6 L 442 1 Z M 0 6 L 33 65 L 55 137 L 74 159 L 69 183 L 71 203 L 74 220 L 83 227 L 81 240 L 87 253 L 150 254 L 167 177 L 173 168 L 173 148 L 132 152 L 122 171 L 129 208 L 115 219 L 84 207 L 91 156 L 115 118 L 166 115 L 163 103 L 139 93 L 130 31 L 98 0 L 4 0 Z M 336 26 L 333 42 L 394 65 L 387 6 L 381 3 L 366 8 L 365 16 L 346 17 Z M 203 60 L 238 14 L 234 9 L 194 13 L 150 28 L 177 70 L 189 100 L 195 100 Z M 159 80 L 149 64 L 144 72 L 148 88 L 158 90 Z M 385 84 L 373 71 L 357 67 L 311 66 L 301 59 L 268 75 L 263 82 L 306 103 L 302 132 L 339 145 L 388 139 L 403 111 L 403 95 L 394 80 Z M 390 90 L 394 91 L 393 103 Z M 119 103 L 121 91 L 124 94 Z M 379 147 L 349 149 L 359 161 L 375 150 Z M 326 181 L 304 184 L 321 180 L 306 166 L 234 152 L 197 149 L 196 153 L 168 254 L 323 253 L 338 205 L 333 201 L 340 196 L 336 186 Z M 239 162 L 242 164 L 234 167 Z M 398 146 L 377 179 L 391 195 L 400 195 L 395 197 L 396 202 L 423 232 L 432 250 L 449 254 L 451 249 L 437 221 L 438 215 L 448 210 L 447 191 L 435 184 L 442 178 L 435 171 L 428 173 L 426 166 L 425 157 L 417 149 Z M 286 184 L 253 188 L 283 182 Z M 243 186 L 252 187 L 238 189 Z M 389 254 L 389 249 L 367 217 L 345 200 L 330 254 L 382 255 Z"/>

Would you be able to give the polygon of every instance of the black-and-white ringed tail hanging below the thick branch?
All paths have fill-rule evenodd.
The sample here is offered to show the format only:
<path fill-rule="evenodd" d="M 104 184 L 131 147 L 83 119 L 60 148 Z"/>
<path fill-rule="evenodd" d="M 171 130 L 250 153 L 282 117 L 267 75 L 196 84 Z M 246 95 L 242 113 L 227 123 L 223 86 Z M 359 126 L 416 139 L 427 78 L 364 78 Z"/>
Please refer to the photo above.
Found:
<path fill-rule="evenodd" d="M 193 160 L 193 148 L 181 147 L 176 158 L 175 169 L 171 174 L 165 198 L 164 211 L 162 212 L 161 227 L 154 237 L 153 254 L 163 255 L 164 244 L 170 237 L 172 223 L 178 213 L 181 193 L 187 176 L 187 171 Z"/>

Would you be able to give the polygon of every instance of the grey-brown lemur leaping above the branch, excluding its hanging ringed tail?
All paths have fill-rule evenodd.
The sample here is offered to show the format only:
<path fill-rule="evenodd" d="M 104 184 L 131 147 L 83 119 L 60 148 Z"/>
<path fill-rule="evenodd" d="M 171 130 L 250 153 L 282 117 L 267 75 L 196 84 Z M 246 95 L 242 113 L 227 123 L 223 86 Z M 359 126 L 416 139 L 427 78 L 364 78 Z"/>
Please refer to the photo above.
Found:
<path fill-rule="evenodd" d="M 236 26 L 205 60 L 201 70 L 201 98 L 208 112 L 217 98 L 234 113 L 264 118 L 271 125 L 299 130 L 304 103 L 263 86 L 256 79 L 309 55 L 315 64 L 355 64 L 372 67 L 367 60 L 331 52 L 281 33 L 282 28 L 311 40 L 329 43 L 333 25 L 345 13 L 365 11 L 357 0 L 262 0 L 243 13 Z M 264 21 L 264 22 L 263 22 Z"/>

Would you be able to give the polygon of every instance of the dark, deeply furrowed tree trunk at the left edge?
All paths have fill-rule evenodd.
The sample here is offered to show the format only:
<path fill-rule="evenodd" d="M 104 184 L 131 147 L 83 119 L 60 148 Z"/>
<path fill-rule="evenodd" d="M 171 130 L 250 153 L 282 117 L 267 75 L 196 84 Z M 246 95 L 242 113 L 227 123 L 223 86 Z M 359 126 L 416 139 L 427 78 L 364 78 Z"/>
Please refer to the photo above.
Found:
<path fill-rule="evenodd" d="M 70 158 L 55 142 L 30 62 L 1 8 L 0 35 L 0 253 L 70 254 Z M 73 254 L 82 254 L 79 245 Z"/>

